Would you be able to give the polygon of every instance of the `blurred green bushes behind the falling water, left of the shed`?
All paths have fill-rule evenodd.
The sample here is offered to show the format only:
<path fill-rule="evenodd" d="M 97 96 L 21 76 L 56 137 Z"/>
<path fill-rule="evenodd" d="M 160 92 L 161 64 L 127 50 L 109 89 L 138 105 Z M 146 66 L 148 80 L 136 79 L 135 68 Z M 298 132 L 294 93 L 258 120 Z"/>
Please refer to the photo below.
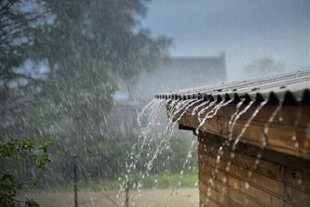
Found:
<path fill-rule="evenodd" d="M 81 178 L 88 179 L 89 177 L 100 176 L 118 178 L 121 175 L 128 174 L 129 155 L 137 155 L 138 153 L 141 155 L 134 172 L 145 174 L 147 162 L 152 159 L 153 153 L 160 142 L 161 140 L 157 138 L 150 146 L 145 145 L 142 149 L 138 147 L 133 151 L 135 144 L 140 146 L 143 143 L 142 138 L 137 134 L 109 134 L 101 139 L 94 139 L 93 142 L 89 141 L 89 148 L 85 151 L 85 155 L 91 161 L 83 159 L 83 155 L 81 155 L 81 159 L 78 159 Z M 170 148 L 158 154 L 157 159 L 154 160 L 154 168 L 149 172 L 150 174 L 181 172 L 186 161 L 186 155 L 191 147 L 191 139 L 173 136 L 169 142 Z M 196 150 L 192 149 L 192 151 L 193 156 L 197 157 Z M 196 163 L 189 164 L 195 166 Z"/>

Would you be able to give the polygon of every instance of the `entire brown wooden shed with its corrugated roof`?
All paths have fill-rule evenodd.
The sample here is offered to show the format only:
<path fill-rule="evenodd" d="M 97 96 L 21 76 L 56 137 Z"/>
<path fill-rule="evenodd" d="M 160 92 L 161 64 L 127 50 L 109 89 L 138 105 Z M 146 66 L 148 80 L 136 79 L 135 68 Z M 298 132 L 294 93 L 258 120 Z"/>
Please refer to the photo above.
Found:
<path fill-rule="evenodd" d="M 202 207 L 310 206 L 310 70 L 156 95 L 198 137 Z"/>

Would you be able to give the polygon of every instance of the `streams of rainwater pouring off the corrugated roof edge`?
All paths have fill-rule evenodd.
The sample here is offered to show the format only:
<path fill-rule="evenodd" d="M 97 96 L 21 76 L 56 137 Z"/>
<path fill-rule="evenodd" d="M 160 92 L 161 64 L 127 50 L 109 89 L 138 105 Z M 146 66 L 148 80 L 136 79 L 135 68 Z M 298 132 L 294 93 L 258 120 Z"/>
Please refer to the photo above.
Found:
<path fill-rule="evenodd" d="M 141 156 L 141 151 L 144 146 L 150 147 L 154 139 L 160 139 L 160 142 L 157 144 L 155 147 L 154 152 L 152 153 L 151 159 L 146 163 L 146 172 L 145 174 L 141 174 L 141 179 L 143 177 L 149 176 L 149 172 L 154 168 L 154 161 L 157 159 L 158 154 L 161 154 L 163 150 L 169 149 L 170 147 L 170 142 L 169 138 L 173 134 L 173 129 L 175 125 L 182 119 L 186 111 L 193 107 L 191 110 L 191 115 L 195 115 L 197 113 L 197 118 L 198 118 L 198 127 L 195 129 L 195 133 L 198 134 L 200 131 L 200 128 L 208 123 L 208 120 L 215 117 L 217 115 L 217 112 L 222 108 L 227 106 L 228 104 L 232 103 L 232 100 L 229 101 L 202 101 L 202 99 L 189 99 L 189 100 L 179 100 L 179 99 L 168 99 L 168 100 L 155 100 L 153 99 L 151 102 L 149 102 L 139 113 L 138 115 L 138 124 L 141 127 L 141 136 L 142 136 L 142 143 L 138 146 L 134 145 L 132 148 L 132 153 L 130 154 L 130 164 L 128 164 L 128 171 L 127 174 L 130 175 L 130 173 L 135 169 L 135 165 L 140 159 Z M 243 107 L 241 110 L 241 106 L 244 105 L 244 101 L 240 101 L 236 104 L 235 111 L 231 115 L 228 124 L 225 123 L 225 127 L 227 127 L 227 138 L 226 141 L 222 143 L 222 145 L 218 148 L 217 151 L 217 156 L 216 156 L 216 164 L 214 171 L 212 173 L 212 179 L 209 180 L 209 187 L 207 189 L 207 197 L 211 195 L 211 186 L 215 184 L 215 179 L 216 175 L 218 172 L 218 166 L 221 160 L 221 156 L 223 155 L 223 150 L 227 147 L 230 147 L 231 153 L 230 153 L 230 160 L 227 162 L 226 166 L 226 171 L 229 171 L 231 161 L 234 159 L 234 151 L 236 149 L 237 144 L 240 142 L 240 139 L 243 137 L 245 134 L 247 128 L 250 126 L 252 120 L 257 116 L 257 114 L 262 110 L 262 108 L 266 105 L 267 100 L 261 102 L 256 109 L 253 111 L 251 116 L 248 118 L 246 121 L 245 125 L 241 128 L 239 134 L 237 136 L 234 136 L 234 127 L 237 123 L 237 121 L 240 119 L 240 117 L 245 114 L 254 104 L 253 101 L 248 102 L 246 106 Z M 167 115 L 168 115 L 168 120 L 166 127 L 159 133 L 159 134 L 152 134 L 150 133 L 152 130 L 152 127 L 155 125 L 155 118 L 158 114 L 158 111 L 163 107 L 163 106 L 168 106 L 167 109 Z M 283 119 L 281 115 L 281 108 L 282 108 L 282 103 L 275 108 L 271 116 L 269 117 L 268 121 L 265 123 L 263 127 L 263 137 L 262 137 L 262 152 L 263 149 L 266 147 L 268 144 L 268 130 L 269 130 L 269 125 L 274 121 L 275 117 L 277 114 L 279 114 L 279 119 L 280 121 Z M 146 112 L 148 111 L 148 113 Z M 206 112 L 207 111 L 207 112 Z M 203 115 L 203 117 L 202 117 Z M 298 114 L 296 116 L 296 120 L 294 122 L 294 127 L 298 127 L 298 124 L 300 122 L 300 116 L 301 116 L 301 107 L 299 108 Z M 145 121 L 146 120 L 146 121 Z M 146 126 L 143 126 L 142 121 L 146 122 Z M 239 124 L 239 122 L 238 122 Z M 309 130 L 309 132 L 308 132 Z M 307 128 L 307 133 L 310 134 L 310 124 Z M 150 134 L 150 135 L 149 135 Z M 233 137 L 234 141 L 233 141 Z M 310 138 L 309 138 L 310 139 Z M 148 143 L 147 143 L 148 140 Z M 292 140 L 295 141 L 295 147 L 298 148 L 298 141 L 296 138 L 296 133 L 292 135 Z M 233 144 L 231 144 L 233 141 Z M 297 143 L 297 144 L 296 144 Z M 190 148 L 188 149 L 185 161 L 183 163 L 181 172 L 180 172 L 180 177 L 178 181 L 178 185 L 182 184 L 182 177 L 184 174 L 184 170 L 186 168 L 186 164 L 188 161 L 192 158 L 192 150 L 197 144 L 195 140 L 192 141 Z M 138 153 L 136 153 L 138 151 Z M 253 170 L 256 170 L 257 165 L 259 164 L 260 158 L 262 156 L 262 153 L 257 154 L 257 159 L 254 162 L 254 165 L 252 166 Z M 125 179 L 128 179 L 128 175 L 125 176 Z M 249 173 L 248 176 L 251 176 L 251 173 Z M 142 187 L 141 183 L 138 183 L 136 185 L 137 189 L 140 189 Z M 249 184 L 246 183 L 245 188 L 248 189 Z M 172 190 L 173 191 L 173 190 Z M 173 192 L 172 192 L 173 193 Z"/>

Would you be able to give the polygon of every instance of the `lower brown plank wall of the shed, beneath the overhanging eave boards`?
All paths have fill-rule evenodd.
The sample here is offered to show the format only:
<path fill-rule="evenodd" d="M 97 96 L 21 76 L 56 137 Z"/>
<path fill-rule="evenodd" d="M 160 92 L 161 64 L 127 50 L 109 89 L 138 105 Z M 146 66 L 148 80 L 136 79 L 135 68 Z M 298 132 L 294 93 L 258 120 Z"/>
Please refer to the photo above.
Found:
<path fill-rule="evenodd" d="M 201 207 L 310 206 L 309 160 L 239 143 L 233 158 L 224 147 L 217 164 L 226 139 L 200 131 L 198 140 Z"/>

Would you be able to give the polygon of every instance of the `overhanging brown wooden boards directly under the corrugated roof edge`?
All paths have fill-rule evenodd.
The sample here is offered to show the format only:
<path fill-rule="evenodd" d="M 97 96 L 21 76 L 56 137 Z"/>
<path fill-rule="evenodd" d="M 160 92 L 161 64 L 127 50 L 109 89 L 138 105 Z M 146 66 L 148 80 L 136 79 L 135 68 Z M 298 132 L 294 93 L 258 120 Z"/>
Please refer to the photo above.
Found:
<path fill-rule="evenodd" d="M 197 119 L 197 113 L 195 115 L 191 115 L 191 111 L 196 105 L 187 109 L 178 121 L 179 124 L 192 128 L 197 128 L 199 126 L 200 123 Z M 245 106 L 246 104 L 241 106 L 239 111 L 242 111 Z M 251 106 L 247 112 L 239 117 L 233 127 L 233 139 L 240 134 L 257 107 L 257 105 Z M 240 141 L 251 143 L 256 146 L 262 146 L 264 126 L 276 108 L 277 106 L 274 105 L 265 105 L 252 120 Z M 214 107 L 210 107 L 210 109 L 202 113 L 201 117 L 203 118 L 213 109 Z M 222 137 L 228 137 L 228 122 L 235 111 L 236 105 L 234 104 L 229 104 L 220 108 L 217 111 L 217 114 L 213 118 L 208 119 L 200 129 Z M 181 111 L 180 114 L 181 113 L 183 113 L 183 111 Z M 178 115 L 175 117 L 178 117 Z M 280 153 L 290 154 L 295 157 L 310 159 L 309 126 L 309 106 L 283 106 L 275 116 L 274 121 L 269 125 L 269 131 L 266 137 L 266 148 Z M 293 139 L 294 135 L 295 140 Z"/>

